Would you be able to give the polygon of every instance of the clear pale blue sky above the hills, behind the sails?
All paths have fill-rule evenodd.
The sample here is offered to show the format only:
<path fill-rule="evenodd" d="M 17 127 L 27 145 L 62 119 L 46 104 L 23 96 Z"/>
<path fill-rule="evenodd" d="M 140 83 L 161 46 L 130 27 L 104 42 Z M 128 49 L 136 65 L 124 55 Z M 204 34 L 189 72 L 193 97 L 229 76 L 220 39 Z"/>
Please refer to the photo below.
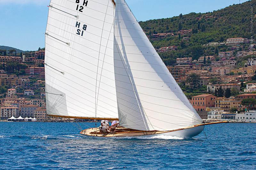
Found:
<path fill-rule="evenodd" d="M 241 3 L 247 0 L 240 0 Z M 209 12 L 239 0 L 126 0 L 138 21 L 170 18 L 180 13 Z M 44 48 L 50 0 L 0 0 L 0 45 L 21 50 Z"/>

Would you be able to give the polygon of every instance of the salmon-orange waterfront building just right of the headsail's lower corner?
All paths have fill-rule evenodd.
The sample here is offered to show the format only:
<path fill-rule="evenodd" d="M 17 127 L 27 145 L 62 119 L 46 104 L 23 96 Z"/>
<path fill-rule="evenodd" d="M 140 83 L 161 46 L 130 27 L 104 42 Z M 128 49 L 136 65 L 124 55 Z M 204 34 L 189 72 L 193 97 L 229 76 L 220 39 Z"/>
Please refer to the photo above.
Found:
<path fill-rule="evenodd" d="M 192 96 L 190 102 L 196 111 L 205 111 L 206 107 L 214 107 L 215 98 L 216 96 L 212 94 L 201 94 L 198 96 Z"/>

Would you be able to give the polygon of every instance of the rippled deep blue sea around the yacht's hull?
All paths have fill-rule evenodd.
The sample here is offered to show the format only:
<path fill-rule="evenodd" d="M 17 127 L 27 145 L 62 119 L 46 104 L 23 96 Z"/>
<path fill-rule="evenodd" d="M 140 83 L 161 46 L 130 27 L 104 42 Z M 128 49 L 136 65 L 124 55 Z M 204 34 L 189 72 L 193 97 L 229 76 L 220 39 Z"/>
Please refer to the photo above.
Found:
<path fill-rule="evenodd" d="M 0 122 L 0 169 L 256 169 L 253 123 L 208 125 L 208 138 L 192 139 L 93 139 L 79 135 L 87 126 L 95 125 Z"/>

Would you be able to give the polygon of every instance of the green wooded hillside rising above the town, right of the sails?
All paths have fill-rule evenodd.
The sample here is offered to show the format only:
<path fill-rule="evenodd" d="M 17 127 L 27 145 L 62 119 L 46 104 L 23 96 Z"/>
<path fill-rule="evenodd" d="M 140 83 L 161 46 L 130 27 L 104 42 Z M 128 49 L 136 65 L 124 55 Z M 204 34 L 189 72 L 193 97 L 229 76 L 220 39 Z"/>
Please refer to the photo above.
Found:
<path fill-rule="evenodd" d="M 207 13 L 189 13 L 172 17 L 140 21 L 140 26 L 150 36 L 155 48 L 178 46 L 178 50 L 159 53 L 165 64 L 172 64 L 177 57 L 192 57 L 198 59 L 203 55 L 214 55 L 215 47 L 202 47 L 209 42 L 222 42 L 227 38 L 243 37 L 250 39 L 250 8 L 251 3 L 256 6 L 256 0 L 242 4 L 230 5 L 218 11 Z M 208 18 L 206 16 L 209 16 Z M 255 10 L 253 20 L 256 19 Z M 253 22 L 256 28 L 256 22 Z M 192 29 L 190 33 L 181 35 L 181 29 Z M 174 33 L 166 38 L 153 38 L 153 33 Z M 252 34 L 255 37 L 255 32 Z M 190 37 L 189 41 L 182 41 L 182 37 Z M 247 47 L 244 47 L 247 48 Z M 218 46 L 218 51 L 228 50 L 226 46 Z"/>

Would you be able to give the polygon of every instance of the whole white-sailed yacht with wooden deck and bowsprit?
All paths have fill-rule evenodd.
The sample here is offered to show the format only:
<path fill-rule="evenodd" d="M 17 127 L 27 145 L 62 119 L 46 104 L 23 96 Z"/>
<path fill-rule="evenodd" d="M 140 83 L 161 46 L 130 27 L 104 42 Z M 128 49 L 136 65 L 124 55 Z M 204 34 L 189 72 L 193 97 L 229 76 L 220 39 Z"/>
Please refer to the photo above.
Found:
<path fill-rule="evenodd" d="M 45 31 L 49 116 L 119 120 L 95 137 L 194 137 L 204 125 L 124 0 L 51 0 Z M 220 123 L 220 122 L 214 122 Z"/>

